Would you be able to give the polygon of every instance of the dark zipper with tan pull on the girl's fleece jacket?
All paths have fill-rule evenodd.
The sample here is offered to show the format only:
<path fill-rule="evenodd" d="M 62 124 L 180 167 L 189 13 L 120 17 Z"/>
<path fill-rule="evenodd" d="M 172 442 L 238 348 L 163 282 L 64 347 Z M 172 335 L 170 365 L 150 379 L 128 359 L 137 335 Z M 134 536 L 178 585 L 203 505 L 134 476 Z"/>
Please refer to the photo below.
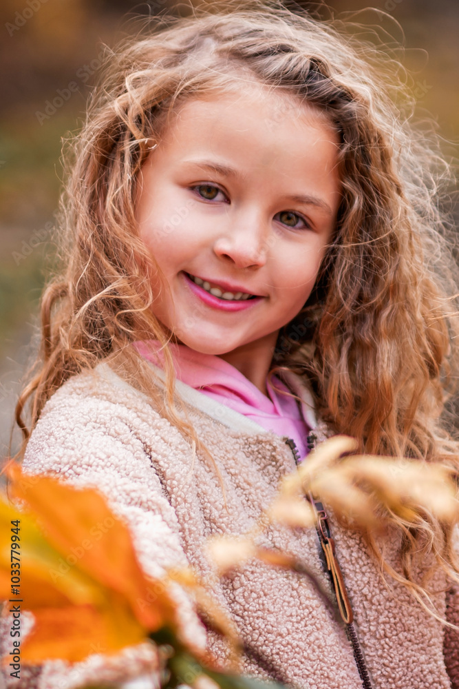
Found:
<path fill-rule="evenodd" d="M 314 432 L 311 431 L 308 435 L 308 449 L 313 450 L 316 444 L 316 436 Z M 290 447 L 292 451 L 293 459 L 295 464 L 298 466 L 300 462 L 300 456 L 295 444 L 295 440 L 284 436 L 284 441 Z M 334 551 L 334 540 L 332 538 L 332 532 L 330 529 L 330 522 L 328 520 L 328 515 L 325 511 L 323 504 L 316 500 L 312 494 L 308 496 L 308 500 L 312 503 L 314 510 L 317 515 L 317 525 L 316 531 L 319 537 L 319 542 L 322 546 L 323 552 L 325 554 L 325 560 L 327 564 L 328 573 L 334 588 L 334 593 L 337 597 L 337 604 L 339 607 L 339 612 L 341 618 L 345 624 L 345 631 L 350 642 L 352 652 L 354 654 L 354 660 L 359 670 L 359 676 L 362 681 L 363 689 L 373 689 L 372 681 L 370 678 L 370 672 L 365 663 L 365 658 L 363 657 L 362 648 L 357 637 L 356 628 L 354 626 L 354 613 L 352 612 L 352 607 L 348 597 L 348 592 L 345 588 L 345 583 L 343 575 L 341 573 L 341 568 L 337 560 L 336 553 Z"/>

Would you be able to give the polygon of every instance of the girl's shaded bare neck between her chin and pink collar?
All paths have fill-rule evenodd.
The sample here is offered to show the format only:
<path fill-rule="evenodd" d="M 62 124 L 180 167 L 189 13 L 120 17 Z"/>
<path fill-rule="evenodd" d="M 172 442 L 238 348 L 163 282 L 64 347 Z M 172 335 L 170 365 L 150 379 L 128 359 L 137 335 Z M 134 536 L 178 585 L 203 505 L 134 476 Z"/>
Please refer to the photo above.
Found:
<path fill-rule="evenodd" d="M 270 333 L 264 338 L 255 340 L 255 342 L 249 342 L 248 345 L 242 345 L 242 347 L 237 347 L 233 351 L 218 356 L 234 366 L 247 380 L 250 380 L 255 387 L 268 396 L 266 376 L 268 376 L 273 360 L 276 341 L 277 332 Z"/>

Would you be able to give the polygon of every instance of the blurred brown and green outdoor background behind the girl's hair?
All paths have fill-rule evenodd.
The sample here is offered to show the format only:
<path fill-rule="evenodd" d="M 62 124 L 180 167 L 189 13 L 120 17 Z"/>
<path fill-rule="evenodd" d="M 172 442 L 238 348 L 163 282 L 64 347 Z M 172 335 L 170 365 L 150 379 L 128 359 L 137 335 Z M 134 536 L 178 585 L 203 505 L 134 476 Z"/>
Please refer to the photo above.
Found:
<path fill-rule="evenodd" d="M 8 451 L 20 380 L 34 356 L 41 289 L 52 267 L 61 145 L 81 126 L 102 43 L 142 15 L 187 14 L 190 1 L 1 0 L 0 4 L 0 452 Z M 218 6 L 218 0 L 209 4 Z M 244 6 L 244 1 L 241 1 Z M 286 3 L 317 9 L 318 3 Z M 404 45 L 418 114 L 429 114 L 458 155 L 458 0 L 331 0 L 331 11 L 384 28 Z M 325 11 L 322 14 L 326 14 Z M 389 39 L 388 41 L 392 41 Z M 17 447 L 17 437 L 13 448 Z"/>

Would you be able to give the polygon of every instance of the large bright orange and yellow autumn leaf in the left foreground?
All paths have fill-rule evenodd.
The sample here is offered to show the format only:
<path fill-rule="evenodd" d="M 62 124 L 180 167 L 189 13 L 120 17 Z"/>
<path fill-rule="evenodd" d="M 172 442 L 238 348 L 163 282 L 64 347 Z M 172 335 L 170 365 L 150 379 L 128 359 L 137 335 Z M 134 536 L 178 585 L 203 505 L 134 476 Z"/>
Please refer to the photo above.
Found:
<path fill-rule="evenodd" d="M 23 661 L 74 662 L 175 628 L 167 582 L 143 573 L 127 526 L 102 495 L 17 466 L 8 476 L 21 511 L 0 500 L 0 595 L 10 597 L 10 522 L 19 519 L 22 606 L 35 620 Z"/>

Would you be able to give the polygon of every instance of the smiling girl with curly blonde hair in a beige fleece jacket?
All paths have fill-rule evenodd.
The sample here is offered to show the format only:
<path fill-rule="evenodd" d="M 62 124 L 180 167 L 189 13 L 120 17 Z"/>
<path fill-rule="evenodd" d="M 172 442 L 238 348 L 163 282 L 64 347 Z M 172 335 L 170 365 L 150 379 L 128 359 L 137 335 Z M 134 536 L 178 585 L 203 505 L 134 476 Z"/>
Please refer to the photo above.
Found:
<path fill-rule="evenodd" d="M 440 424 L 455 327 L 443 173 L 389 99 L 394 72 L 370 44 L 280 7 L 201 13 L 111 55 L 76 141 L 67 263 L 43 297 L 43 358 L 17 419 L 25 471 L 98 486 L 153 576 L 191 564 L 210 580 L 206 537 L 246 533 L 325 436 L 458 467 Z M 308 582 L 249 561 L 213 590 L 244 672 L 458 687 L 451 528 L 394 515 L 376 541 L 330 526 L 352 643 Z M 264 538 L 327 584 L 314 530 Z M 184 633 L 224 664 L 224 642 L 177 595 Z M 91 663 L 37 681 L 102 681 Z"/>

